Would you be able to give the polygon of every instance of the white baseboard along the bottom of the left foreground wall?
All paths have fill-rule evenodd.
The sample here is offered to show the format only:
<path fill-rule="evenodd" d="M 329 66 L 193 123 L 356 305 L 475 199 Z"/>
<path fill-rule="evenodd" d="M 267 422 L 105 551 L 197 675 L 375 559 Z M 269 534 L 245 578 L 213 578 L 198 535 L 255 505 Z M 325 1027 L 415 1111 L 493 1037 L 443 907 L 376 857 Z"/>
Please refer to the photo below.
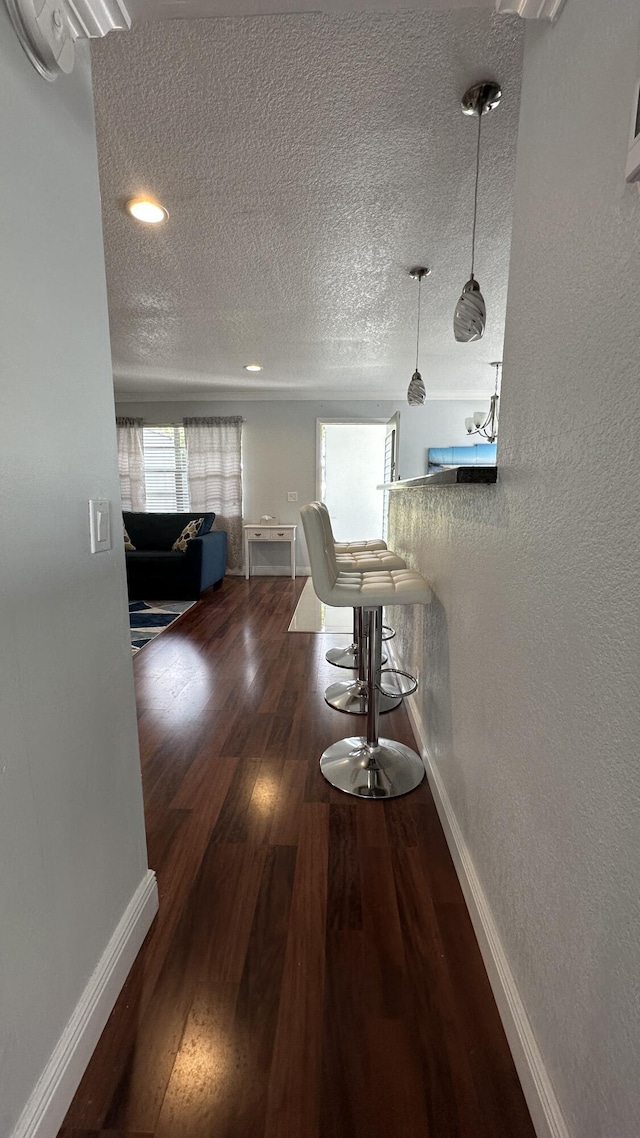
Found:
<path fill-rule="evenodd" d="M 148 869 L 56 1044 L 11 1138 L 51 1138 L 60 1129 L 157 908 L 156 875 Z"/>

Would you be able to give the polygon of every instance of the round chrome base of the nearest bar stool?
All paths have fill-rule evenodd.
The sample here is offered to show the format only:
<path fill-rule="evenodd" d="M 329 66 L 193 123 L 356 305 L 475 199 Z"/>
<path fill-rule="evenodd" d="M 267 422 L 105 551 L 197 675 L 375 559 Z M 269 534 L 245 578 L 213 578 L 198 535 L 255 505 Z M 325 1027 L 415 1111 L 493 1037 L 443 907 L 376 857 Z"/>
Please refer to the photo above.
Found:
<path fill-rule="evenodd" d="M 327 748 L 320 769 L 331 786 L 358 798 L 399 798 L 425 777 L 422 760 L 410 747 L 392 739 L 369 744 L 362 735 Z"/>

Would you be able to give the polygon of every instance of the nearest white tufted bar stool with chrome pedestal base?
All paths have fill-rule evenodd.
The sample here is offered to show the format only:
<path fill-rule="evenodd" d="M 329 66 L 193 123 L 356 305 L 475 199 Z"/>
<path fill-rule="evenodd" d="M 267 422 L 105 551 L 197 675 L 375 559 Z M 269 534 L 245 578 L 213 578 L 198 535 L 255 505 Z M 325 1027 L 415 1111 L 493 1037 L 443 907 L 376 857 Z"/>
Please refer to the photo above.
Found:
<path fill-rule="evenodd" d="M 319 511 L 304 505 L 301 517 L 315 594 L 335 608 L 362 609 L 367 622 L 367 735 L 334 743 L 323 752 L 320 769 L 333 786 L 358 798 L 407 794 L 422 781 L 425 767 L 410 747 L 378 736 L 383 605 L 428 604 L 432 591 L 421 574 L 412 569 L 338 571 Z"/>

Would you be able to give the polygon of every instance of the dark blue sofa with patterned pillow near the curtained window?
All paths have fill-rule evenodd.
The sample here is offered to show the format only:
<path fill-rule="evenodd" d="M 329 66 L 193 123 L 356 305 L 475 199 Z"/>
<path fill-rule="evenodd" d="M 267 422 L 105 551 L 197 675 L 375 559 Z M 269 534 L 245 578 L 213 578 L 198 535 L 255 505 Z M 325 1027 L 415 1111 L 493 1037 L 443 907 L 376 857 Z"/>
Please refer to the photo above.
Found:
<path fill-rule="evenodd" d="M 131 513 L 123 521 L 133 551 L 125 553 L 130 601 L 196 601 L 219 586 L 227 568 L 227 534 L 212 530 L 214 513 Z M 188 521 L 204 518 L 184 552 L 171 549 Z"/>

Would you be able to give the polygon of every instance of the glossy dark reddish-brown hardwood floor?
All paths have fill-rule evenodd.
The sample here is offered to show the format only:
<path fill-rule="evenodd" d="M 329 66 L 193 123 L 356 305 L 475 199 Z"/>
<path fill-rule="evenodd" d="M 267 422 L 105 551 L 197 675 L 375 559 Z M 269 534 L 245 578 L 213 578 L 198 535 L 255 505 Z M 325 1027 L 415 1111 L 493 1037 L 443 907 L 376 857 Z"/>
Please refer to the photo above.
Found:
<path fill-rule="evenodd" d="M 161 908 L 59 1138 L 534 1138 L 426 781 L 320 775 L 364 728 L 303 584 L 227 578 L 134 661 Z"/>

